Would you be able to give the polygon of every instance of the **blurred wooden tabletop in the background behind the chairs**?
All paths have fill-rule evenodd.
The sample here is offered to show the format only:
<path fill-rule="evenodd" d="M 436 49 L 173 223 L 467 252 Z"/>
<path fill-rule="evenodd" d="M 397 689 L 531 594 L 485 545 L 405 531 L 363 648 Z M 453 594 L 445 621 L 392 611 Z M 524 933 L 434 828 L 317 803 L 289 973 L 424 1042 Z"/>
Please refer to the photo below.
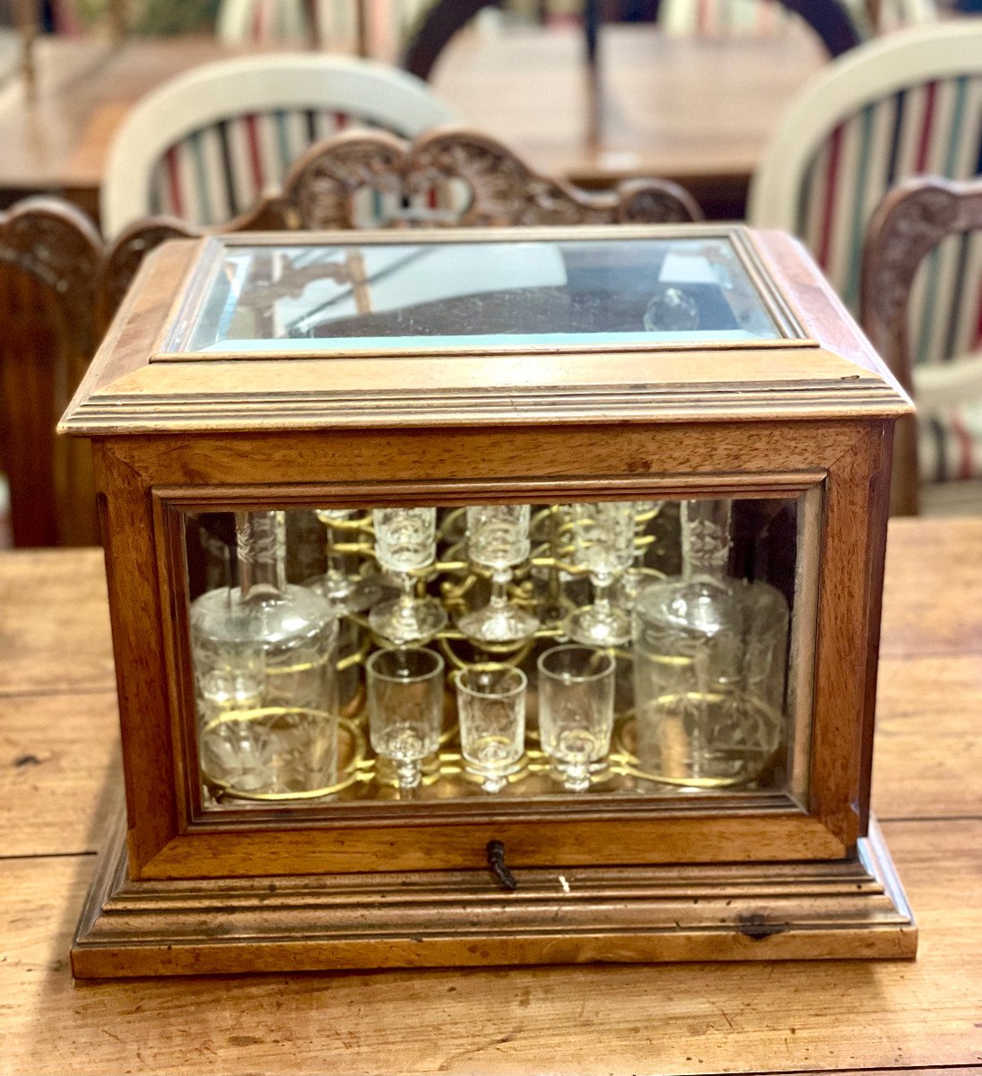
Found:
<path fill-rule="evenodd" d="M 825 62 L 804 30 L 726 42 L 609 26 L 594 95 L 583 47 L 574 27 L 460 34 L 440 57 L 433 88 L 469 126 L 548 174 L 591 186 L 675 179 L 709 210 L 729 214 L 742 208 L 781 110 Z M 26 99 L 19 80 L 0 88 L 0 204 L 61 192 L 95 213 L 107 148 L 134 101 L 223 55 L 201 38 L 131 38 L 118 49 L 87 39 L 39 41 L 36 99 Z"/>

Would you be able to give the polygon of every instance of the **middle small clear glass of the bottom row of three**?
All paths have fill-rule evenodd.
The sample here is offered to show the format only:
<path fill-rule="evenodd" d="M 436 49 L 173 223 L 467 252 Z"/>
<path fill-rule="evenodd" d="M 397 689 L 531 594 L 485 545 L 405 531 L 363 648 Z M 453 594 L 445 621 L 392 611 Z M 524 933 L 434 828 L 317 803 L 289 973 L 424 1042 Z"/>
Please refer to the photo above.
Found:
<path fill-rule="evenodd" d="M 453 679 L 467 773 L 480 778 L 486 792 L 501 792 L 525 751 L 529 680 L 521 669 L 496 662 L 462 669 Z"/>

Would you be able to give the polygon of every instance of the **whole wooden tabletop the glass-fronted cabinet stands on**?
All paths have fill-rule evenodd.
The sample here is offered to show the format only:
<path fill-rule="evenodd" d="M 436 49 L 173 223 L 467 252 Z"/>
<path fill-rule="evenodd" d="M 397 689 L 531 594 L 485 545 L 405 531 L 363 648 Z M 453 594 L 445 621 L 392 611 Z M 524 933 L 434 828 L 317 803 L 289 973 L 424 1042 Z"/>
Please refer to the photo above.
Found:
<path fill-rule="evenodd" d="M 890 524 L 873 801 L 916 962 L 73 986 L 118 782 L 97 551 L 0 555 L 0 1073 L 982 1067 L 982 520 Z"/>

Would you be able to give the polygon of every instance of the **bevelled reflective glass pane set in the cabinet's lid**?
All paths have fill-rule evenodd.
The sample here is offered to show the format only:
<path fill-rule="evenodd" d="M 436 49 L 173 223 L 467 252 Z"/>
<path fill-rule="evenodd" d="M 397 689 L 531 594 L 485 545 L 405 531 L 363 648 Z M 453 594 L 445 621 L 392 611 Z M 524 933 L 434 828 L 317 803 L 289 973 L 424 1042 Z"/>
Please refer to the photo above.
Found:
<path fill-rule="evenodd" d="M 438 352 L 774 339 L 723 236 L 228 246 L 178 351 Z"/>

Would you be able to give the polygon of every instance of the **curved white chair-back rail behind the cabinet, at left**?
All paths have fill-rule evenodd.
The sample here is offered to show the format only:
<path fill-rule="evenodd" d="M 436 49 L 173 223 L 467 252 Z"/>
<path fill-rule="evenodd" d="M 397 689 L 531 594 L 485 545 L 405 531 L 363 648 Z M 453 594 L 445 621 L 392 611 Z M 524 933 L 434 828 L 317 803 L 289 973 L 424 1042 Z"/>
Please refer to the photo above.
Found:
<path fill-rule="evenodd" d="M 107 238 L 146 215 L 154 168 L 194 130 L 277 109 L 327 109 L 412 139 L 458 114 L 424 82 L 383 63 L 323 54 L 269 54 L 206 63 L 131 109 L 113 139 L 100 211 Z"/>

